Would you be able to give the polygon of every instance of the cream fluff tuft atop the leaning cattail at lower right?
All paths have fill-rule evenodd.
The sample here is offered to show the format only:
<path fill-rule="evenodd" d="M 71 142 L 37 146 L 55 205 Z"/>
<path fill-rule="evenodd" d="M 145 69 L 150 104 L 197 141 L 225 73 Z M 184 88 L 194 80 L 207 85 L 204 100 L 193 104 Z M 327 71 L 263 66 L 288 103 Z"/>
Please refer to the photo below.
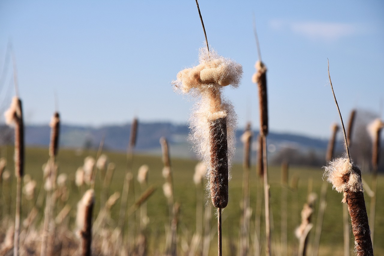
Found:
<path fill-rule="evenodd" d="M 346 190 L 353 192 L 363 191 L 361 178 L 358 173 L 353 170 L 352 166 L 353 163 L 351 163 L 348 158 L 341 157 L 330 161 L 328 165 L 324 167 L 324 175 L 327 176 L 328 182 L 332 183 L 336 191 L 340 193 Z M 348 182 L 344 182 L 344 175 L 349 175 Z M 343 203 L 345 203 L 345 198 L 343 199 Z"/>

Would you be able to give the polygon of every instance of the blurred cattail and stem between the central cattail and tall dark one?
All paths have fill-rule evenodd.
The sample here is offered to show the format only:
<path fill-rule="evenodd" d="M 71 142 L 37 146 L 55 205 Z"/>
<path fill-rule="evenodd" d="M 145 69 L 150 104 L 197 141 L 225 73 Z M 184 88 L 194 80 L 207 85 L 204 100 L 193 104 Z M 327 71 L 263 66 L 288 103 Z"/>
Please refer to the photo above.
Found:
<path fill-rule="evenodd" d="M 241 141 L 243 143 L 243 152 L 244 152 L 244 158 L 243 158 L 243 214 L 241 218 L 241 228 L 240 228 L 240 253 L 239 255 L 247 255 L 249 251 L 249 225 L 250 225 L 250 219 L 249 219 L 249 201 L 250 201 L 250 183 L 249 183 L 249 177 L 250 177 L 250 148 L 251 148 L 251 141 L 252 141 L 252 131 L 250 123 L 247 124 L 247 127 L 241 137 Z"/>

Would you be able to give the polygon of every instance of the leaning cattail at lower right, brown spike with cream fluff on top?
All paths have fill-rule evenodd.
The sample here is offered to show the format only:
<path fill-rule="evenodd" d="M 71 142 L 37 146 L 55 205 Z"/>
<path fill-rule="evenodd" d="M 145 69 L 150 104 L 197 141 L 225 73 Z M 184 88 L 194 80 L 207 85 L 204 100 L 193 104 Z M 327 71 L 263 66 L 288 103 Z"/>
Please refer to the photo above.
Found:
<path fill-rule="evenodd" d="M 325 167 L 325 175 L 336 191 L 343 192 L 342 202 L 348 204 L 356 255 L 373 255 L 360 169 L 348 158 L 336 158 Z"/>

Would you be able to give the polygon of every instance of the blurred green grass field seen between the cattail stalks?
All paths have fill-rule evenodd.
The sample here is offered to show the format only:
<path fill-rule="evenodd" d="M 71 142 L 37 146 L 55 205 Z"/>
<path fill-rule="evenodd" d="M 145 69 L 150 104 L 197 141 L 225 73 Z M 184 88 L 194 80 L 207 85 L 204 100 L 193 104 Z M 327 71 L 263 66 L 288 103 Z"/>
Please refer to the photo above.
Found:
<path fill-rule="evenodd" d="M 109 162 L 116 164 L 116 170 L 114 172 L 113 180 L 109 188 L 110 194 L 114 191 L 121 191 L 124 173 L 127 166 L 127 158 L 124 153 L 104 152 Z M 2 156 L 7 156 L 8 170 L 11 171 L 11 177 L 13 178 L 13 148 L 3 147 L 1 150 Z M 96 157 L 96 151 L 76 151 L 61 149 L 58 154 L 57 163 L 59 166 L 59 173 L 67 173 L 70 183 L 70 196 L 68 203 L 72 205 L 71 211 L 71 229 L 74 228 L 74 218 L 76 216 L 76 204 L 81 198 L 81 194 L 85 191 L 84 188 L 80 191 L 74 185 L 74 173 L 79 166 L 83 165 L 84 158 L 86 156 Z M 195 160 L 177 159 L 171 157 L 171 167 L 174 179 L 174 191 L 175 201 L 180 203 L 180 220 L 179 220 L 179 242 L 183 241 L 190 242 L 190 239 L 195 231 L 195 206 L 196 206 L 196 191 L 193 182 L 194 168 L 197 163 Z M 27 148 L 26 149 L 26 160 L 25 160 L 25 173 L 32 176 L 37 181 L 36 194 L 42 184 L 42 165 L 48 160 L 48 149 L 46 148 Z M 150 249 L 149 253 L 154 248 L 163 248 L 164 246 L 164 233 L 165 225 L 168 222 L 168 206 L 166 198 L 162 192 L 162 185 L 164 178 L 162 177 L 162 161 L 160 156 L 151 155 L 134 155 L 132 161 L 132 171 L 134 173 L 135 180 L 135 192 L 136 198 L 140 194 L 140 186 L 136 180 L 138 168 L 146 164 L 149 166 L 149 178 L 148 184 L 157 187 L 155 193 L 149 198 L 147 203 L 147 214 L 150 219 L 149 231 L 151 236 L 149 238 Z M 368 184 L 371 184 L 371 176 L 364 174 L 363 177 Z M 230 241 L 236 244 L 238 239 L 239 222 L 240 222 L 240 202 L 242 198 L 242 165 L 235 164 L 231 170 L 232 180 L 230 180 L 229 186 L 229 203 L 227 208 L 223 210 L 223 251 L 229 251 Z M 271 209 L 273 213 L 273 231 L 272 231 L 272 243 L 280 241 L 280 198 L 281 198 L 281 185 L 280 185 L 280 166 L 268 166 L 268 175 L 270 181 L 270 195 L 271 195 Z M 290 248 L 295 249 L 298 241 L 294 236 L 295 228 L 301 221 L 300 211 L 303 204 L 306 202 L 306 196 L 308 194 L 308 186 L 314 193 L 318 195 L 316 201 L 315 212 L 312 217 L 312 222 L 316 223 L 316 216 L 319 209 L 319 195 L 322 180 L 323 170 L 321 168 L 303 168 L 291 166 L 289 170 L 289 180 L 292 177 L 298 178 L 297 190 L 288 189 L 288 244 Z M 14 181 L 15 179 L 13 179 Z M 255 223 L 255 205 L 256 205 L 256 191 L 258 186 L 258 177 L 256 175 L 256 168 L 252 166 L 251 170 L 251 198 L 250 205 L 253 208 L 252 221 L 251 221 L 251 238 L 254 232 Z M 99 179 L 96 178 L 96 205 L 94 209 L 94 215 L 98 213 L 100 208 L 100 184 Z M 15 185 L 12 182 L 12 194 L 15 192 Z M 311 185 L 312 184 L 312 185 Z M 374 252 L 376 255 L 384 255 L 384 204 L 381 203 L 384 198 L 384 177 L 378 176 L 377 186 L 377 205 L 376 205 L 376 228 L 375 228 L 375 241 L 374 241 Z M 7 190 L 6 186 L 2 185 L 2 208 L 9 208 L 7 201 Z M 260 190 L 261 191 L 261 190 Z M 131 193 L 131 192 L 130 192 Z M 343 254 L 343 216 L 342 216 L 342 194 L 332 190 L 332 186 L 328 185 L 327 191 L 327 207 L 324 214 L 323 229 L 320 241 L 320 255 L 342 255 Z M 207 197 L 207 194 L 206 194 Z M 132 193 L 129 198 L 129 205 L 134 202 Z M 14 216 L 14 200 L 10 201 L 10 213 Z M 370 199 L 366 196 L 366 206 L 369 211 Z M 206 199 L 206 204 L 210 204 L 209 199 Z M 23 210 L 22 216 L 26 217 L 30 209 L 31 203 L 23 199 Z M 117 220 L 119 211 L 119 201 L 112 208 L 112 217 Z M 57 214 L 57 213 L 56 213 Z M 214 215 L 215 216 L 215 215 Z M 4 217 L 4 216 L 3 216 Z M 40 219 L 42 218 L 42 211 L 40 211 Z M 263 219 L 263 217 L 262 217 Z M 212 219 L 212 229 L 215 230 L 216 220 Z M 314 227 L 315 228 L 315 227 Z M 308 254 L 311 254 L 311 244 L 314 238 L 314 228 L 310 232 L 310 246 L 308 248 Z M 263 223 L 261 225 L 262 237 L 264 233 Z M 217 241 L 216 236 L 212 240 L 211 250 L 212 254 L 217 252 Z M 179 243 L 179 244 L 180 244 Z M 252 246 L 252 244 L 251 244 Z M 353 249 L 353 235 L 351 234 L 351 250 Z M 181 250 L 181 249 L 180 249 Z M 289 249 L 289 251 L 291 251 Z M 227 253 L 226 253 L 227 254 Z"/>

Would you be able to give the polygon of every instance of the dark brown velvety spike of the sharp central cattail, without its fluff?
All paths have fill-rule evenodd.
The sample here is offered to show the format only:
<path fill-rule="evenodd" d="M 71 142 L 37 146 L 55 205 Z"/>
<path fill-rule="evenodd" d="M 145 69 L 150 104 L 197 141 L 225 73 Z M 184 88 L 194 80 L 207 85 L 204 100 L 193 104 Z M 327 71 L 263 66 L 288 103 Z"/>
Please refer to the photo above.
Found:
<path fill-rule="evenodd" d="M 210 121 L 210 188 L 216 208 L 228 204 L 227 118 Z"/>

